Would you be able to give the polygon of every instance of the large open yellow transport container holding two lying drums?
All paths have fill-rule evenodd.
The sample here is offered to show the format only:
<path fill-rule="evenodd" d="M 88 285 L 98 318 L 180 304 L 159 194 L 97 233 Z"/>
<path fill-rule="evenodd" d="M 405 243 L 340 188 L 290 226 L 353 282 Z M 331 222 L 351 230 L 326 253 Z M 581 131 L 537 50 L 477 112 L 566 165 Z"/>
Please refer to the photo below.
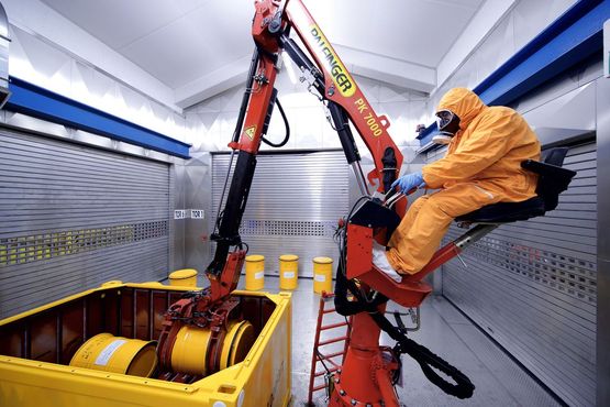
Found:
<path fill-rule="evenodd" d="M 70 366 L 89 339 L 157 340 L 163 315 L 189 287 L 113 282 L 0 321 L 0 406 L 287 406 L 290 402 L 290 294 L 234 292 L 244 321 L 230 343 L 255 340 L 242 362 L 187 383 Z M 234 352 L 232 354 L 235 354 Z M 224 355 L 221 364 L 234 356 Z"/>

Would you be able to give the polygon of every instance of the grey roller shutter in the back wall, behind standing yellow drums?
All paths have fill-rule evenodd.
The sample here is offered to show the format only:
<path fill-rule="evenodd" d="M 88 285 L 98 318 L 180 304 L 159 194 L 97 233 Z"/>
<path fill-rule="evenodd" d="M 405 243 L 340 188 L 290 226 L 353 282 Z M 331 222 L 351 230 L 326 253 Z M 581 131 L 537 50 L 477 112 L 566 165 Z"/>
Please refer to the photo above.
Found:
<path fill-rule="evenodd" d="M 228 154 L 212 158 L 213 221 L 229 158 Z M 333 233 L 337 220 L 347 213 L 350 196 L 345 156 L 342 151 L 330 151 L 260 154 L 257 160 L 240 230 L 249 245 L 248 254 L 265 255 L 267 274 L 278 273 L 279 255 L 297 254 L 300 276 L 311 277 L 313 257 L 337 260 Z"/>

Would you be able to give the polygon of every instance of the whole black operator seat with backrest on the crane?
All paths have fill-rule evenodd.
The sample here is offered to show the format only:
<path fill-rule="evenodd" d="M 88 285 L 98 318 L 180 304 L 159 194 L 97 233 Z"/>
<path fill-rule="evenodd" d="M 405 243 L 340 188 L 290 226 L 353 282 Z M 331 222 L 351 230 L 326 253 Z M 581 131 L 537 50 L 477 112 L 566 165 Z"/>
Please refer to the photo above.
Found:
<path fill-rule="evenodd" d="M 536 196 L 521 202 L 498 202 L 457 217 L 458 223 L 510 223 L 539 217 L 557 207 L 559 194 L 567 189 L 576 172 L 562 168 L 568 147 L 543 152 L 542 162 L 526 160 L 521 167 L 539 175 Z"/>

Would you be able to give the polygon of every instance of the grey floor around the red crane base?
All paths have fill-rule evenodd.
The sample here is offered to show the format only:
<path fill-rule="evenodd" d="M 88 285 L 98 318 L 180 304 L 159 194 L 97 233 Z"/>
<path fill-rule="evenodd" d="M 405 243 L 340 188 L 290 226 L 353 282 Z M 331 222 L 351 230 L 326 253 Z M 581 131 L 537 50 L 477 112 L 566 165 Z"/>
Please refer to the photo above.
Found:
<path fill-rule="evenodd" d="M 242 278 L 240 288 L 243 288 L 244 280 Z M 302 278 L 292 292 L 293 406 L 303 406 L 308 399 L 320 300 L 312 285 L 311 279 Z M 278 278 L 266 277 L 264 290 L 277 293 L 278 286 Z M 390 302 L 388 309 L 399 307 Z M 331 336 L 337 334 L 331 332 Z M 447 396 L 425 378 L 413 360 L 403 355 L 402 387 L 397 391 L 404 406 L 558 406 L 544 388 L 441 296 L 424 301 L 421 307 L 421 329 L 411 333 L 410 338 L 459 369 L 475 384 L 476 389 L 474 396 L 466 400 Z M 389 338 L 381 338 L 381 342 L 393 344 Z M 317 406 L 325 406 L 322 393 L 314 395 Z"/>

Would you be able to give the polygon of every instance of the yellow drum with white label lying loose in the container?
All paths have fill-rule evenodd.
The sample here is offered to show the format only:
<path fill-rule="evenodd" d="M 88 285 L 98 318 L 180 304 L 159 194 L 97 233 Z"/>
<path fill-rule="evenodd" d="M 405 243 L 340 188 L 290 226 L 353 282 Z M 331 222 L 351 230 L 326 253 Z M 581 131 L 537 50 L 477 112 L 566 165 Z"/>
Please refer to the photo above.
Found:
<path fill-rule="evenodd" d="M 70 366 L 149 377 L 157 366 L 156 341 L 100 333 L 85 342 Z"/>

